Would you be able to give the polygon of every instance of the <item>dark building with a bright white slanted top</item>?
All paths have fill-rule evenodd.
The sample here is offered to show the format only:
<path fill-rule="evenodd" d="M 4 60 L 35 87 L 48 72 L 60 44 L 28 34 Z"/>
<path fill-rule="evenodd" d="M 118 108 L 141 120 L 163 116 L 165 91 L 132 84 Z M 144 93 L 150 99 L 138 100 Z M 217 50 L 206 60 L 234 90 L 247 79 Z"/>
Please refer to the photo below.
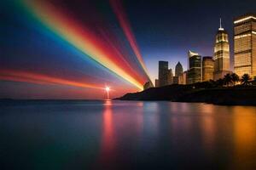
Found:
<path fill-rule="evenodd" d="M 188 84 L 201 82 L 201 55 L 189 50 Z"/>

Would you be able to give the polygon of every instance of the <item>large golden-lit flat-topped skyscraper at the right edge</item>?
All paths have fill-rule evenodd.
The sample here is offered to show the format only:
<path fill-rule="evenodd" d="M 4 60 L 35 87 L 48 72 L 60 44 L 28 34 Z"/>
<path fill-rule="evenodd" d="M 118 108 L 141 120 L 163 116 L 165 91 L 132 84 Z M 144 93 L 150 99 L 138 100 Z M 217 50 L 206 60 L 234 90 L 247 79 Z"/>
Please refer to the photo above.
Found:
<path fill-rule="evenodd" d="M 241 77 L 256 76 L 256 14 L 234 20 L 234 71 Z"/>

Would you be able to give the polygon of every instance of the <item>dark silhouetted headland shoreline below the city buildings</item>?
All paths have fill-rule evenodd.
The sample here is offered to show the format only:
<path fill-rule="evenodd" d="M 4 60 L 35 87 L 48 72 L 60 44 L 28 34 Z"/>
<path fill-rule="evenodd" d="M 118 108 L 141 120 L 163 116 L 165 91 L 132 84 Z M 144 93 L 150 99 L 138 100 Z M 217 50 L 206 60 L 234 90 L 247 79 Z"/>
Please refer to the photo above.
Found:
<path fill-rule="evenodd" d="M 256 106 L 256 87 L 195 88 L 193 85 L 169 85 L 125 94 L 117 99 Z"/>

